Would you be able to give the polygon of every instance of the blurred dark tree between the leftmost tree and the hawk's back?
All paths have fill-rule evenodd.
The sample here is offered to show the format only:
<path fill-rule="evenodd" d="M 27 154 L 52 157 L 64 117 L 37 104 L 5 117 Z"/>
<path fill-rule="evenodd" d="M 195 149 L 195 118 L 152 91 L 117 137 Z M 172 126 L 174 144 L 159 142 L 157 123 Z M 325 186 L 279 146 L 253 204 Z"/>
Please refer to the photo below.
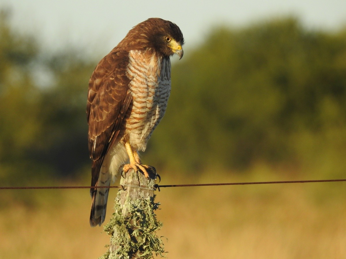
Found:
<path fill-rule="evenodd" d="M 53 83 L 41 92 L 44 137 L 31 155 L 35 160 L 45 161 L 61 176 L 81 173 L 82 167 L 90 162 L 85 107 L 88 81 L 95 64 L 72 49 L 46 60 Z"/>

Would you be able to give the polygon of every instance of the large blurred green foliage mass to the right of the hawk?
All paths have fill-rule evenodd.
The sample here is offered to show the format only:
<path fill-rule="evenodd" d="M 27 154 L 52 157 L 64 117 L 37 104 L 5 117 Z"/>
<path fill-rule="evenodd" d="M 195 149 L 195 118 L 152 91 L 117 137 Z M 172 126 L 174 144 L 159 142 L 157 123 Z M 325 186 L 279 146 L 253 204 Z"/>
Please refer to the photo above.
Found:
<path fill-rule="evenodd" d="M 345 134 L 326 136 L 346 130 L 345 60 L 345 33 L 309 31 L 291 18 L 216 28 L 173 66 L 152 154 L 195 171 L 313 164 L 326 146 L 345 153 Z"/>

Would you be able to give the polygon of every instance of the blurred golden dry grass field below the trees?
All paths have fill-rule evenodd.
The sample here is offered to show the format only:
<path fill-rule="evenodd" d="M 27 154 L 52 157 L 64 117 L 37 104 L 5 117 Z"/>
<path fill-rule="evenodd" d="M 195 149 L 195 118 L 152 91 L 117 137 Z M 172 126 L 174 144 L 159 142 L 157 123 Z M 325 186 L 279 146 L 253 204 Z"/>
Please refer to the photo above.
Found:
<path fill-rule="evenodd" d="M 289 180 L 264 171 L 199 178 L 161 173 L 161 184 Z M 346 183 L 162 188 L 156 194 L 167 258 L 346 258 Z M 106 220 L 115 195 L 112 189 Z M 0 258 L 88 259 L 106 251 L 106 233 L 89 226 L 89 190 L 2 190 L 0 197 Z"/>

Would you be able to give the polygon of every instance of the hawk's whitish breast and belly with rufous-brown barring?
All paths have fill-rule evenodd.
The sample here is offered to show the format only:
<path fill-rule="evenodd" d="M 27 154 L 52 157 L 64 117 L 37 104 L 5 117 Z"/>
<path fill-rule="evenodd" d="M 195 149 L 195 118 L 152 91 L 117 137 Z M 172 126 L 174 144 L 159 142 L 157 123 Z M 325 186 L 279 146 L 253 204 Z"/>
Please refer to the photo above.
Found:
<path fill-rule="evenodd" d="M 166 111 L 171 92 L 171 61 L 150 49 L 131 50 L 129 61 L 127 75 L 131 79 L 133 103 L 126 116 L 125 137 L 133 148 L 144 151 Z"/>

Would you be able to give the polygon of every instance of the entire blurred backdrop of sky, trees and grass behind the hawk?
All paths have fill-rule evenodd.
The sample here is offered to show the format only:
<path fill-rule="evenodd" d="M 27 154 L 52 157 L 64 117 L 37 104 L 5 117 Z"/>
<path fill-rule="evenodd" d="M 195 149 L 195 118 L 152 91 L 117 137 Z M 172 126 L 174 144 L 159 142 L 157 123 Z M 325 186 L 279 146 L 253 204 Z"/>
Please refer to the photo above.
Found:
<path fill-rule="evenodd" d="M 86 95 L 137 23 L 185 37 L 161 184 L 346 177 L 346 2 L 0 0 L 1 186 L 89 185 Z M 345 258 L 345 183 L 161 189 L 168 258 Z M 112 213 L 111 190 L 108 213 Z M 1 258 L 97 258 L 89 190 L 0 191 Z"/>

